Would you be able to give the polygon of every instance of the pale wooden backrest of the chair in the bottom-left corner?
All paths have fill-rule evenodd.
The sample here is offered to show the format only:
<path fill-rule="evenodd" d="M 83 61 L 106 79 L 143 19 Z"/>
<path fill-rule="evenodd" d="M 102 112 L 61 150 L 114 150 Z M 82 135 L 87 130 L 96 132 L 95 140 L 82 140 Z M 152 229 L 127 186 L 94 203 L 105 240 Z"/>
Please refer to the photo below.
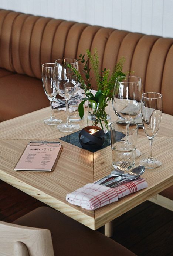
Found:
<path fill-rule="evenodd" d="M 50 230 L 0 221 L 1 256 L 54 256 Z"/>

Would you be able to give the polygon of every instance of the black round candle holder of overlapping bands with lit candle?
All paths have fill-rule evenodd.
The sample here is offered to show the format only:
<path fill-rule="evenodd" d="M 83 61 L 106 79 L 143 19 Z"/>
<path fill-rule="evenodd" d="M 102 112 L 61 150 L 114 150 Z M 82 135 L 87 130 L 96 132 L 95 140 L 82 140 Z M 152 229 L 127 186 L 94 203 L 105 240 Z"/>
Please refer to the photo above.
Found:
<path fill-rule="evenodd" d="M 79 133 L 79 142 L 85 149 L 98 149 L 104 143 L 104 131 L 98 126 L 86 126 Z"/>

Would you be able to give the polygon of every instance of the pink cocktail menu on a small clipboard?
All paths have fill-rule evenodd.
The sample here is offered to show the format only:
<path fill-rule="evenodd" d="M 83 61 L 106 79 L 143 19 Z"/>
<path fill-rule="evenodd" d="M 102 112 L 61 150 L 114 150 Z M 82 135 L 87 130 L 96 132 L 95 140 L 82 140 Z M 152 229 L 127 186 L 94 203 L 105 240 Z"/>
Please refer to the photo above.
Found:
<path fill-rule="evenodd" d="M 29 142 L 20 156 L 15 171 L 51 172 L 62 150 L 60 142 Z"/>

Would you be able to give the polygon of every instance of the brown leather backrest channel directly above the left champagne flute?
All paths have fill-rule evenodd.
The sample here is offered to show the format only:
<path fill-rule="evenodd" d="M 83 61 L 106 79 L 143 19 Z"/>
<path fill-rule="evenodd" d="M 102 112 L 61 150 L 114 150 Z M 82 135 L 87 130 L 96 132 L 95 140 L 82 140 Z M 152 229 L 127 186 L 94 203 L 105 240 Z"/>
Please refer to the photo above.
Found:
<path fill-rule="evenodd" d="M 52 47 L 55 37 L 55 32 L 58 26 L 63 22 L 63 20 L 51 19 L 45 26 L 42 42 L 41 42 L 41 63 L 40 65 L 47 62 L 55 62 L 52 58 Z"/>

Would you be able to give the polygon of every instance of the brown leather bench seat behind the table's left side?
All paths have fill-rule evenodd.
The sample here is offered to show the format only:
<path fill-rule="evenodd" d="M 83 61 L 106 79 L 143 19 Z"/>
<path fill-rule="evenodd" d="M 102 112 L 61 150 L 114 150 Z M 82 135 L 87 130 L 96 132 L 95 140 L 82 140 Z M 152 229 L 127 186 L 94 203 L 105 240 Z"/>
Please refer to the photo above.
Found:
<path fill-rule="evenodd" d="M 0 71 L 0 75 L 7 74 Z M 42 81 L 37 78 L 14 73 L 5 75 L 0 77 L 0 92 L 0 121 L 50 106 Z"/>

